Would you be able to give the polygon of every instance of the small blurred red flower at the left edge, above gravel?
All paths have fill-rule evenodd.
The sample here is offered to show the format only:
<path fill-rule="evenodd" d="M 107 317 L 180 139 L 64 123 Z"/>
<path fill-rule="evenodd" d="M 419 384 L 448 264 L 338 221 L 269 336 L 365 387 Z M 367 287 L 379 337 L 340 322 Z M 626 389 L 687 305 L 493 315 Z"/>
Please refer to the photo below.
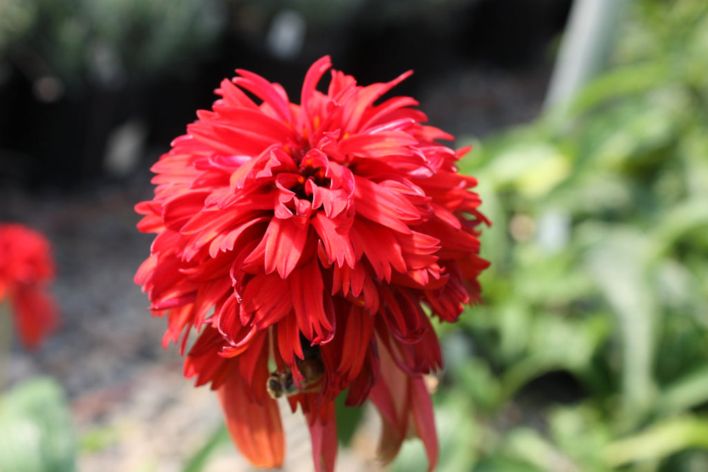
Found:
<path fill-rule="evenodd" d="M 50 243 L 21 224 L 0 224 L 0 304 L 9 301 L 26 347 L 38 347 L 59 315 L 46 287 L 54 279 Z"/>

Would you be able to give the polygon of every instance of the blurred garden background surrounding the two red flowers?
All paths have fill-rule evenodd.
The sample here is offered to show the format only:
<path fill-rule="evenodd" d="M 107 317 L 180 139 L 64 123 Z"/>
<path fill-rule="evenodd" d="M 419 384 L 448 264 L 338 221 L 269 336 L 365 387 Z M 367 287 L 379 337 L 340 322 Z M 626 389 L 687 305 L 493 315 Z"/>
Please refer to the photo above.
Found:
<path fill-rule="evenodd" d="M 438 326 L 438 470 L 708 470 L 704 0 L 0 0 L 0 221 L 52 242 L 64 318 L 0 372 L 0 461 L 251 470 L 132 283 L 132 207 L 234 69 L 297 97 L 324 54 L 360 84 L 413 69 L 396 94 L 474 145 L 492 265 Z M 44 439 L 8 414 L 28 398 Z M 311 470 L 286 418 L 285 470 Z M 376 421 L 342 408 L 338 471 L 375 470 Z"/>

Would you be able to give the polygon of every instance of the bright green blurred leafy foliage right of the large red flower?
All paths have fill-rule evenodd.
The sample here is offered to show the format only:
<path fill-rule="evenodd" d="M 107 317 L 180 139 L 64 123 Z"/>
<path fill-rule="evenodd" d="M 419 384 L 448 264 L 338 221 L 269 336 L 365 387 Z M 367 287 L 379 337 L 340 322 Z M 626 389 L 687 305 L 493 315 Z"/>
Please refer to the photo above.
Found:
<path fill-rule="evenodd" d="M 706 51 L 704 1 L 639 1 L 569 112 L 462 162 L 492 265 L 464 335 L 440 330 L 466 343 L 446 352 L 440 429 L 452 408 L 474 431 L 441 433 L 468 452 L 441 470 L 706 470 Z"/>

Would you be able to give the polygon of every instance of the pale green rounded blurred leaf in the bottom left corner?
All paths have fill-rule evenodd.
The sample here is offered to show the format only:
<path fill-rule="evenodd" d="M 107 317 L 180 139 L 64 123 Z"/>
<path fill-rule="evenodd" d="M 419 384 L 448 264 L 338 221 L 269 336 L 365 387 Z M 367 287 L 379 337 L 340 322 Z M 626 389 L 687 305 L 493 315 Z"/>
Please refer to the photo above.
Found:
<path fill-rule="evenodd" d="M 75 446 L 64 394 L 52 379 L 32 379 L 0 398 L 0 470 L 72 472 Z"/>

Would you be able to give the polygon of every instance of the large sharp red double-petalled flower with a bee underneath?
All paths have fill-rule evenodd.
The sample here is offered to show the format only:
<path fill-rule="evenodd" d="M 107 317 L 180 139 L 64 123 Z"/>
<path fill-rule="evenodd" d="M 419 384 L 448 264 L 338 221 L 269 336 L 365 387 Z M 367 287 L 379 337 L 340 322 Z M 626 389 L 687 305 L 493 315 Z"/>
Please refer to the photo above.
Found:
<path fill-rule="evenodd" d="M 307 417 L 316 470 L 333 470 L 333 400 L 348 388 L 348 405 L 370 398 L 382 414 L 382 459 L 416 434 L 433 468 L 421 374 L 442 359 L 426 313 L 455 321 L 479 301 L 476 180 L 455 168 L 468 149 L 435 142 L 452 137 L 421 125 L 416 100 L 376 103 L 409 73 L 362 87 L 332 71 L 321 93 L 330 67 L 309 69 L 300 105 L 249 71 L 222 81 L 152 168 L 154 200 L 136 210 L 157 236 L 135 281 L 168 315 L 165 344 L 184 350 L 201 328 L 185 375 L 219 391 L 254 465 L 282 462 L 271 396 L 284 395 Z"/>

